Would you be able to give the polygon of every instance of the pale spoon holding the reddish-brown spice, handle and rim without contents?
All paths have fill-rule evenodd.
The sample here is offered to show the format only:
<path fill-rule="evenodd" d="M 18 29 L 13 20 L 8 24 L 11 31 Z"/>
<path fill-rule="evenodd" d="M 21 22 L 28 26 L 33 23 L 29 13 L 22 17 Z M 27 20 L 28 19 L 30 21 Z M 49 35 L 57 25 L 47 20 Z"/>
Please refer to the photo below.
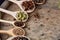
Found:
<path fill-rule="evenodd" d="M 17 0 L 8 0 L 8 1 L 17 4 L 17 5 L 20 7 L 20 9 L 21 9 L 22 11 L 25 11 L 24 8 L 23 8 L 23 6 L 22 6 L 22 3 L 23 3 L 24 1 L 31 1 L 31 0 L 20 0 L 20 1 L 17 1 Z M 32 2 L 33 2 L 33 1 L 32 1 Z M 27 10 L 26 12 L 28 12 L 28 13 L 33 12 L 33 11 L 35 10 L 35 4 L 34 4 L 34 2 L 33 2 L 33 6 L 34 6 L 33 9 Z"/>

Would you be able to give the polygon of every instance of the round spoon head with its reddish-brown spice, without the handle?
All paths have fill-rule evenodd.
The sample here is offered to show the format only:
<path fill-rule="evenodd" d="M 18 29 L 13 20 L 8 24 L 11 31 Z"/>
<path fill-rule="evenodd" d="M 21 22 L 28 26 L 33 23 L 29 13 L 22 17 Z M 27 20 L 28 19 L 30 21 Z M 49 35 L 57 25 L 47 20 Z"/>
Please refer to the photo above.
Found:
<path fill-rule="evenodd" d="M 33 1 L 31 0 L 26 0 L 26 1 L 23 1 L 22 4 L 21 4 L 22 8 L 24 11 L 30 13 L 30 12 L 33 12 L 34 9 L 35 9 L 35 4 Z"/>

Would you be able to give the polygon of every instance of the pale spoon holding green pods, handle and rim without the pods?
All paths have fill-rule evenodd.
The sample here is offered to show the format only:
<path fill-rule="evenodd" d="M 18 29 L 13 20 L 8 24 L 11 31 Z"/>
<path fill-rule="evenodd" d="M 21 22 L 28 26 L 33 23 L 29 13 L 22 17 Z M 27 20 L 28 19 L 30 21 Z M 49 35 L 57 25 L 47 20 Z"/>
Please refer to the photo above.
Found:
<path fill-rule="evenodd" d="M 20 12 L 23 12 L 23 11 L 16 11 L 16 12 L 12 12 L 12 11 L 8 11 L 8 10 L 5 10 L 5 9 L 3 9 L 3 8 L 0 8 L 0 11 L 1 12 L 4 12 L 4 13 L 7 13 L 7 14 L 9 14 L 9 15 L 11 15 L 11 16 L 13 16 L 17 21 L 21 21 L 21 20 L 19 20 L 18 18 L 17 18 L 17 15 L 18 15 L 18 13 L 20 13 Z M 28 14 L 24 11 L 24 14 L 26 14 L 26 19 L 25 20 L 22 20 L 22 22 L 25 22 L 25 21 L 27 21 L 27 19 L 28 19 Z"/>

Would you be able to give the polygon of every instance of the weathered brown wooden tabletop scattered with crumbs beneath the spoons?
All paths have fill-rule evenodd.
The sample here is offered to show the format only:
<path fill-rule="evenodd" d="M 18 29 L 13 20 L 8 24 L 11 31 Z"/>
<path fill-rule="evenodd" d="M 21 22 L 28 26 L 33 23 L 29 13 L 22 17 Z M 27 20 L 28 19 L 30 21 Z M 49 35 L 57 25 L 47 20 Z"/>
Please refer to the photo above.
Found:
<path fill-rule="evenodd" d="M 26 22 L 26 36 L 31 40 L 58 40 L 60 38 L 60 10 L 57 8 L 59 0 L 47 0 L 42 9 L 37 8 L 33 13 L 29 14 Z M 40 7 L 40 6 L 39 6 Z M 19 10 L 17 5 L 12 4 L 8 10 Z M 4 14 L 4 20 L 13 21 L 14 18 Z M 13 26 L 2 23 L 1 29 L 8 30 Z"/>

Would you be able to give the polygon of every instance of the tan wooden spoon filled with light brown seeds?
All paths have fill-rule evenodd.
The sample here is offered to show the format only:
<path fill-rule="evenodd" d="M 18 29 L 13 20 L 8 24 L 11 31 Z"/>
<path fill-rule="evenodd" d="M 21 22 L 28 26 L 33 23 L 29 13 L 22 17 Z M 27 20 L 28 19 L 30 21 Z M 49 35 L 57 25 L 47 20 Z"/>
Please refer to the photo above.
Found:
<path fill-rule="evenodd" d="M 25 31 L 20 28 L 20 27 L 15 27 L 13 29 L 10 30 L 0 30 L 0 33 L 6 33 L 12 36 L 16 36 L 16 35 L 25 35 Z"/>

